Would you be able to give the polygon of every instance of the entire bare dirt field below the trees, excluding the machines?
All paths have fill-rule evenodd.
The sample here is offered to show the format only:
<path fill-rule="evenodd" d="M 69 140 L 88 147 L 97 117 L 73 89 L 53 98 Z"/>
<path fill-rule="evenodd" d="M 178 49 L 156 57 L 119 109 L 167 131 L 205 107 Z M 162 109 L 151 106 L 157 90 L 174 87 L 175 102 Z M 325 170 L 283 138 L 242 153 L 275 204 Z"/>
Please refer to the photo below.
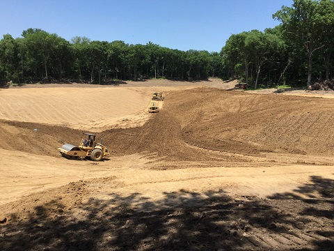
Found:
<path fill-rule="evenodd" d="M 333 250 L 333 92 L 236 84 L 1 89 L 0 250 Z"/>

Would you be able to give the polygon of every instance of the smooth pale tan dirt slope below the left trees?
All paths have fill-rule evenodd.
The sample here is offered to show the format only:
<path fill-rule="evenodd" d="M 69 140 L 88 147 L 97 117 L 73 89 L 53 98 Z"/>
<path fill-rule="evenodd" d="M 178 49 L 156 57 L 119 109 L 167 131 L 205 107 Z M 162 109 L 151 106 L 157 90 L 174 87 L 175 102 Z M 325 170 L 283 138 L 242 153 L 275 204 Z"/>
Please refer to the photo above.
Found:
<path fill-rule="evenodd" d="M 1 96 L 2 104 L 6 105 L 0 107 L 0 114 L 1 112 L 6 114 L 3 114 L 2 117 L 0 115 L 0 119 L 67 126 L 73 124 L 77 127 L 81 123 L 84 126 L 87 122 L 91 126 L 95 121 L 108 124 L 105 118 L 109 109 L 114 110 L 114 107 L 119 106 L 120 109 L 116 114 L 111 114 L 117 117 L 122 114 L 128 116 L 129 110 L 138 112 L 138 109 L 142 110 L 145 107 L 143 105 L 145 97 L 135 91 L 133 93 L 136 95 L 131 100 L 124 102 L 123 90 L 107 88 L 104 88 L 103 91 L 95 88 L 67 88 L 67 92 L 58 89 L 6 90 L 6 93 Z M 113 98 L 110 98 L 111 96 Z M 93 101 L 88 102 L 87 100 L 98 100 L 99 105 L 92 105 Z M 122 103 L 124 104 L 120 105 Z M 91 114 L 94 114 L 94 119 Z"/>

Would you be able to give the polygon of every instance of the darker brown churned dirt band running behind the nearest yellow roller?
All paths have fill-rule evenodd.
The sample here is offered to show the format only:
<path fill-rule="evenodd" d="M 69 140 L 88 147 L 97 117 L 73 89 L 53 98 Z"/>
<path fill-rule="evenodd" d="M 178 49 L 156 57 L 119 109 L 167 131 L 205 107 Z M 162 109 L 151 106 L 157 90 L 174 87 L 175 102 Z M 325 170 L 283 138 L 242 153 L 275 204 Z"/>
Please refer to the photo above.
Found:
<path fill-rule="evenodd" d="M 332 156 L 333 105 L 334 100 L 324 98 L 189 89 L 171 92 L 164 112 L 148 114 L 150 121 L 144 126 L 97 135 L 113 155 L 148 151 L 168 160 L 209 160 L 215 154 L 207 151 Z M 15 121 L 2 121 L 0 126 L 1 137 L 6 139 L 0 142 L 1 148 L 16 145 L 19 151 L 51 156 L 57 156 L 54 149 L 65 142 L 80 142 L 84 132 Z"/>

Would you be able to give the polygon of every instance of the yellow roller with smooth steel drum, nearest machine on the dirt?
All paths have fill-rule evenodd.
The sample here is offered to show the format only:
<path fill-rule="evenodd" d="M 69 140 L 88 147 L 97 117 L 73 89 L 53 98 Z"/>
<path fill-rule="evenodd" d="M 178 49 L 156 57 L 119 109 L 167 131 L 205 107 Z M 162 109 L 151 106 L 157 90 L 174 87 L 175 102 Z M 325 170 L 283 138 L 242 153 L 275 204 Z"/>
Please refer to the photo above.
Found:
<path fill-rule="evenodd" d="M 95 141 L 96 135 L 84 132 L 88 139 L 81 139 L 79 146 L 72 144 L 63 144 L 58 151 L 63 157 L 70 160 L 80 160 L 81 158 L 90 158 L 93 161 L 100 161 L 102 158 L 110 155 L 106 146 Z"/>

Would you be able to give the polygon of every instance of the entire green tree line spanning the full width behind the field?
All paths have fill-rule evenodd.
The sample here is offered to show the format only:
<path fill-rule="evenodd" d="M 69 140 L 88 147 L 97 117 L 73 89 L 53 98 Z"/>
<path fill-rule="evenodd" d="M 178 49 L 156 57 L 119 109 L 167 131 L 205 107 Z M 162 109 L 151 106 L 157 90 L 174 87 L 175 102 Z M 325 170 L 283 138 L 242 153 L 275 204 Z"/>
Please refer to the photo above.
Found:
<path fill-rule="evenodd" d="M 312 84 L 333 78 L 334 1 L 294 0 L 273 14 L 280 24 L 233 34 L 221 52 L 172 50 L 152 42 L 71 41 L 42 29 L 0 40 L 0 81 L 106 84 L 113 79 L 239 78 L 253 86 Z"/>

